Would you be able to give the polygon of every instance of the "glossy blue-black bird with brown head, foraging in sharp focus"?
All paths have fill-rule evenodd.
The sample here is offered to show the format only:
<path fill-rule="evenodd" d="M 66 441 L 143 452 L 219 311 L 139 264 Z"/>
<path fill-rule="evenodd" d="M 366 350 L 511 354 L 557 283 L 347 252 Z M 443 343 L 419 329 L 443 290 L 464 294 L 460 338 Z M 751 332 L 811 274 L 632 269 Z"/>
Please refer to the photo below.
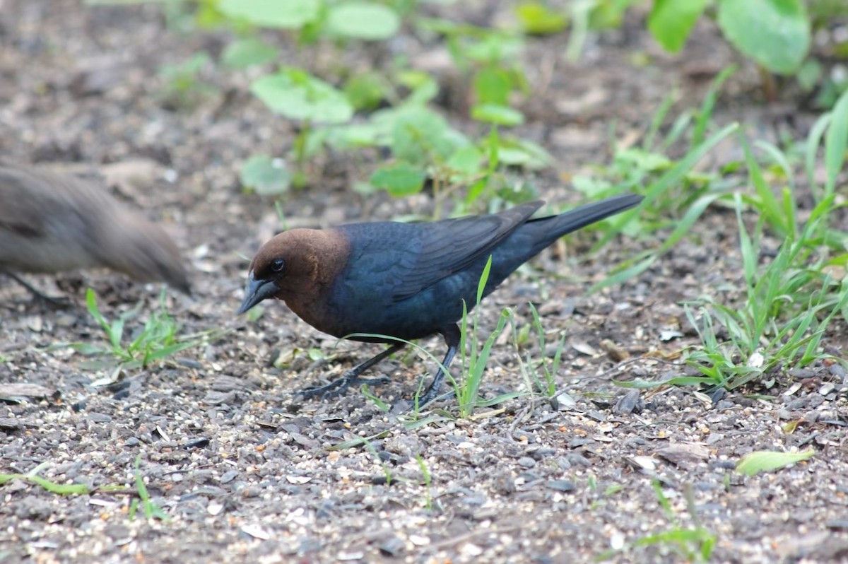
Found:
<path fill-rule="evenodd" d="M 448 345 L 442 361 L 448 368 L 460 345 L 457 321 L 463 300 L 468 310 L 476 304 L 477 286 L 490 256 L 483 295 L 559 237 L 633 208 L 641 200 L 635 194 L 618 196 L 535 220 L 530 216 L 543 202 L 430 223 L 381 221 L 282 232 L 259 248 L 250 263 L 238 313 L 276 298 L 312 327 L 338 338 L 371 333 L 410 341 L 439 333 Z M 300 394 L 332 397 L 352 384 L 385 381 L 360 374 L 404 343 L 350 338 L 390 346 L 343 377 Z M 436 397 L 443 379 L 440 367 L 419 405 Z"/>

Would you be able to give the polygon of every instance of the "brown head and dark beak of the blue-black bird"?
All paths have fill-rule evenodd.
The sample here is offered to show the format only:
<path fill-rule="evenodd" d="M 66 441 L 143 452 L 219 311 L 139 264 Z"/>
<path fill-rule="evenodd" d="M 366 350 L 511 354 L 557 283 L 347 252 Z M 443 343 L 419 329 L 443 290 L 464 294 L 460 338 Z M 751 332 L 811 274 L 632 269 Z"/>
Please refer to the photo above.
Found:
<path fill-rule="evenodd" d="M 293 229 L 276 235 L 250 262 L 237 314 L 264 299 L 276 298 L 300 315 L 298 305 L 310 303 L 332 284 L 348 257 L 347 239 L 332 229 Z"/>

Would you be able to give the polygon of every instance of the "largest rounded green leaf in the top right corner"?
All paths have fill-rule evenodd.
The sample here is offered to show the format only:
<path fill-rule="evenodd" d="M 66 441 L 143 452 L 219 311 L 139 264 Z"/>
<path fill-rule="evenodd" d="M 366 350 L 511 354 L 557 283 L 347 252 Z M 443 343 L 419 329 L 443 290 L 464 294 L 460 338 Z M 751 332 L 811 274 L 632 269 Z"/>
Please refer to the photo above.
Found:
<path fill-rule="evenodd" d="M 782 75 L 795 72 L 810 48 L 801 0 L 721 0 L 718 26 L 740 52 Z"/>

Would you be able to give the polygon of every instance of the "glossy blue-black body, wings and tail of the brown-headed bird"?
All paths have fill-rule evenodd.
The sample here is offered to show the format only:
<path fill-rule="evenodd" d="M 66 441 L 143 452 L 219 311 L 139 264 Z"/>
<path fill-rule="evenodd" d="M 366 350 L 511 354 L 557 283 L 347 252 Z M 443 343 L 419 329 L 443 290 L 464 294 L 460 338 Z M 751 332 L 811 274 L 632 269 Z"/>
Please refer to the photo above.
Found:
<path fill-rule="evenodd" d="M 614 198 L 529 221 L 542 202 L 432 223 L 381 221 L 337 227 L 350 243 L 350 257 L 327 295 L 337 326 L 319 328 L 339 338 L 366 332 L 412 340 L 440 332 L 460 321 L 463 300 L 468 310 L 476 304 L 490 255 L 484 296 L 566 233 L 640 199 Z"/>

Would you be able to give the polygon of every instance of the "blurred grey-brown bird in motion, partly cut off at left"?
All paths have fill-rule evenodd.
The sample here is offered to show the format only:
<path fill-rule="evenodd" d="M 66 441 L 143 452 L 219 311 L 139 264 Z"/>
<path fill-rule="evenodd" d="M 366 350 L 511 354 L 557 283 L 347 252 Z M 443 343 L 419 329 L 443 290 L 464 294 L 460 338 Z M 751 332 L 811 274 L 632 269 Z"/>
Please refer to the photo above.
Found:
<path fill-rule="evenodd" d="M 85 181 L 0 163 L 0 271 L 22 282 L 16 272 L 96 266 L 189 292 L 180 251 L 161 227 Z"/>

